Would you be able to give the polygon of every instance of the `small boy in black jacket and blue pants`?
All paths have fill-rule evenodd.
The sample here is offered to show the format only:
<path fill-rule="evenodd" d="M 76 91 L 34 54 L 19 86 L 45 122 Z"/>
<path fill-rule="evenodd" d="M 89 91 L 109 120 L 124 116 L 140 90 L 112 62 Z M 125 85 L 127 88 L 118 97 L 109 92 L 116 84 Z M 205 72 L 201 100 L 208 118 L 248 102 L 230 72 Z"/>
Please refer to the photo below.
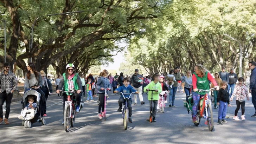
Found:
<path fill-rule="evenodd" d="M 228 83 L 223 80 L 220 82 L 221 89 L 219 89 L 218 97 L 217 97 L 217 105 L 219 105 L 219 113 L 218 113 L 218 123 L 228 123 L 228 121 L 225 120 L 226 112 L 227 112 L 227 106 L 231 106 L 229 104 L 229 93 L 226 90 L 226 87 L 228 86 Z"/>

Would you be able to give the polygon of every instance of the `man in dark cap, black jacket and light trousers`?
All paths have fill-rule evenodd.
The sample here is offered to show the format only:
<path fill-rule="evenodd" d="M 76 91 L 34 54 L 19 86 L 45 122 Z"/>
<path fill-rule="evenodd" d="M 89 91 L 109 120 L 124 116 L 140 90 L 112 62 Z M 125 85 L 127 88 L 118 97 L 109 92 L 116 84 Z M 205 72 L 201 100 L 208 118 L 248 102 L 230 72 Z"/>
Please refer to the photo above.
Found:
<path fill-rule="evenodd" d="M 135 73 L 133 74 L 133 77 L 132 77 L 132 79 L 133 79 L 133 88 L 136 90 L 136 91 L 138 91 L 139 92 L 139 98 L 140 98 L 140 104 L 145 104 L 145 102 L 143 102 L 143 97 L 142 97 L 142 86 L 141 86 L 141 84 L 143 84 L 143 80 L 141 80 L 140 82 L 139 82 L 139 70 L 138 69 L 135 69 L 134 70 L 135 71 Z M 137 94 L 134 94 L 134 104 L 137 104 Z"/>

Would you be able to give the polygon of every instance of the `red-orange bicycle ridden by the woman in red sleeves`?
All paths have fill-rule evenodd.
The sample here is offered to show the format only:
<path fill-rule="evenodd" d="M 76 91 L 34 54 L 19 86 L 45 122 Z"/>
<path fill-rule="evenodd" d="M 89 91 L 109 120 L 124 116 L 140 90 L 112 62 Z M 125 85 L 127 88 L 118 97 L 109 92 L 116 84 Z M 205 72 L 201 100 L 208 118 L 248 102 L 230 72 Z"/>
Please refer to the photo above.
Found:
<path fill-rule="evenodd" d="M 212 105 L 211 101 L 208 99 L 208 92 L 211 90 L 215 90 L 215 88 L 212 88 L 210 90 L 198 90 L 198 92 L 206 92 L 204 97 L 200 97 L 199 101 L 199 109 L 196 115 L 197 123 L 194 123 L 194 125 L 198 126 L 201 120 L 201 117 L 204 116 L 204 111 L 206 112 L 205 116 L 205 124 L 208 125 L 208 129 L 210 131 L 213 130 L 213 113 L 212 113 Z M 209 110 L 208 110 L 209 109 Z"/>

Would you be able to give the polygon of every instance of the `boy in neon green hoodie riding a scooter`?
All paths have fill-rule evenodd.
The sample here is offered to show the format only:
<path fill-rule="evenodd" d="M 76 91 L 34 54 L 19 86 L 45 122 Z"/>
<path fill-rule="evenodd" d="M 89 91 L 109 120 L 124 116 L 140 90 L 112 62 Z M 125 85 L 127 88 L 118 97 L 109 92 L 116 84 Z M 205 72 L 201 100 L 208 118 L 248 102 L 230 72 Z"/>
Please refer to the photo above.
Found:
<path fill-rule="evenodd" d="M 149 91 L 149 90 L 155 90 L 155 91 L 149 91 L 148 92 L 148 101 L 149 101 L 149 108 L 151 111 L 151 99 L 153 97 L 153 104 L 154 104 L 154 110 L 153 110 L 153 122 L 156 122 L 155 116 L 156 116 L 156 108 L 157 108 L 157 103 L 159 100 L 159 93 L 162 91 L 162 86 L 159 83 L 160 81 L 160 76 L 159 74 L 154 74 L 153 75 L 153 80 L 151 83 L 149 83 L 146 87 L 144 87 L 144 92 Z"/>

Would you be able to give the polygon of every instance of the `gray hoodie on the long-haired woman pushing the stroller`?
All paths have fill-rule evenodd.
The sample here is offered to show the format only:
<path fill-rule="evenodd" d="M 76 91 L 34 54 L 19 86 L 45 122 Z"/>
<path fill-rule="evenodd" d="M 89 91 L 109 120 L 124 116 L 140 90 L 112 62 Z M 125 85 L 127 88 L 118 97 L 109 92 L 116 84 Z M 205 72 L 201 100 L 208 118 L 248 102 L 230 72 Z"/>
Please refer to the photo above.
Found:
<path fill-rule="evenodd" d="M 27 77 L 27 73 L 25 74 L 25 90 L 32 87 L 32 86 L 40 86 L 43 87 L 43 79 L 41 77 L 41 74 L 39 73 L 39 78 L 36 79 L 36 75 L 30 74 L 30 79 L 28 79 Z"/>

